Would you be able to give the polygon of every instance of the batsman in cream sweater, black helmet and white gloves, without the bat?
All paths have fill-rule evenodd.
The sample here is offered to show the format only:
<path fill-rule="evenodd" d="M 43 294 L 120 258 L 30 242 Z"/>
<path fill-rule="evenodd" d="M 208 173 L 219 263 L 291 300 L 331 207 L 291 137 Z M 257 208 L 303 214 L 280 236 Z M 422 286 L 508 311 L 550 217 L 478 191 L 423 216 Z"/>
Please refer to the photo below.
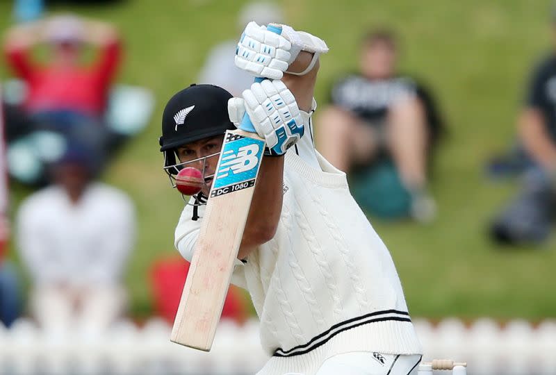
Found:
<path fill-rule="evenodd" d="M 258 374 L 416 374 L 421 347 L 390 253 L 345 174 L 313 145 L 313 89 L 328 48 L 281 28 L 247 24 L 236 65 L 268 79 L 243 98 L 192 85 L 165 107 L 165 171 L 172 179 L 195 167 L 205 182 L 183 209 L 175 245 L 191 260 L 224 132 L 247 113 L 267 149 L 232 283 L 250 292 L 271 356 Z"/>

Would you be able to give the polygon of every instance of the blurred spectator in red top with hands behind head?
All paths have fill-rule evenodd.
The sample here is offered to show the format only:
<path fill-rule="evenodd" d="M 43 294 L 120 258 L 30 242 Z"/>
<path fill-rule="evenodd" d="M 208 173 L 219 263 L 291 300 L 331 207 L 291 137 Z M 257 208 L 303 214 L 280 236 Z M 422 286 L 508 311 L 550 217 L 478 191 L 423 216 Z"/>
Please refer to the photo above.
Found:
<path fill-rule="evenodd" d="M 42 43 L 51 50 L 44 65 L 31 58 L 33 47 Z M 99 49 L 90 66 L 81 64 L 85 44 Z M 104 113 L 120 50 L 113 27 L 70 15 L 15 26 L 5 44 L 8 64 L 28 86 L 28 113 L 67 110 L 94 117 Z"/>

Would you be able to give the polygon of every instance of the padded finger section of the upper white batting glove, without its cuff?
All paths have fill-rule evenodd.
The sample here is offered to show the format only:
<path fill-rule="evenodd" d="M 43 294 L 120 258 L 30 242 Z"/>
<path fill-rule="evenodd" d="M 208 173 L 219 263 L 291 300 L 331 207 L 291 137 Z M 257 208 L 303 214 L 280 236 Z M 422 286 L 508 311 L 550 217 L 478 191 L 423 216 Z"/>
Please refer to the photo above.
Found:
<path fill-rule="evenodd" d="M 236 66 L 254 76 L 280 79 L 291 60 L 291 43 L 266 26 L 250 22 L 236 49 Z"/>

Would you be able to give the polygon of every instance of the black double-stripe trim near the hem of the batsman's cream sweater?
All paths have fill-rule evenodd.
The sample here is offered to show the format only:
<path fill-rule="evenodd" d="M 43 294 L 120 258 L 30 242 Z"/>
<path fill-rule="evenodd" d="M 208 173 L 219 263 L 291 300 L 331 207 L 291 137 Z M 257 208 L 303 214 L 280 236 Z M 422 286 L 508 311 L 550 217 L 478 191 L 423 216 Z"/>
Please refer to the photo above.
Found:
<path fill-rule="evenodd" d="M 380 317 L 380 315 L 403 315 L 402 317 L 399 316 L 384 316 Z M 370 319 L 374 317 L 373 319 Z M 293 347 L 288 350 L 284 350 L 278 348 L 275 350 L 272 356 L 275 357 L 293 357 L 293 356 L 300 356 L 302 354 L 309 353 L 313 349 L 316 349 L 324 344 L 326 344 L 330 339 L 334 338 L 334 336 L 338 335 L 343 331 L 347 331 L 348 329 L 355 328 L 358 326 L 363 326 L 364 324 L 370 324 L 375 322 L 387 322 L 387 321 L 397 321 L 397 322 L 411 322 L 409 318 L 409 313 L 400 310 L 382 310 L 382 311 L 375 311 L 374 313 L 368 313 L 366 315 L 361 315 L 360 317 L 354 317 L 352 319 L 347 319 L 344 322 L 334 324 L 334 326 L 327 329 L 327 331 L 316 335 L 314 338 L 309 340 L 306 344 L 297 345 L 297 347 Z"/>

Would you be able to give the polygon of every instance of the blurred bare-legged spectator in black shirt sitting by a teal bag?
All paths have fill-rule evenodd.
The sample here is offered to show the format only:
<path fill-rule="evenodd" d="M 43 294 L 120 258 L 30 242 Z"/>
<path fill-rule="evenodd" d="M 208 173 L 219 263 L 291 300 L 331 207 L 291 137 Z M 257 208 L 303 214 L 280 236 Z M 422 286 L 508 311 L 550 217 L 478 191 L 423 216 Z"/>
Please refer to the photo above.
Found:
<path fill-rule="evenodd" d="M 359 204 L 381 217 L 434 217 L 427 169 L 441 122 L 430 94 L 396 73 L 398 50 L 389 31 L 368 33 L 360 72 L 332 88 L 318 119 L 318 149 L 350 174 Z"/>

